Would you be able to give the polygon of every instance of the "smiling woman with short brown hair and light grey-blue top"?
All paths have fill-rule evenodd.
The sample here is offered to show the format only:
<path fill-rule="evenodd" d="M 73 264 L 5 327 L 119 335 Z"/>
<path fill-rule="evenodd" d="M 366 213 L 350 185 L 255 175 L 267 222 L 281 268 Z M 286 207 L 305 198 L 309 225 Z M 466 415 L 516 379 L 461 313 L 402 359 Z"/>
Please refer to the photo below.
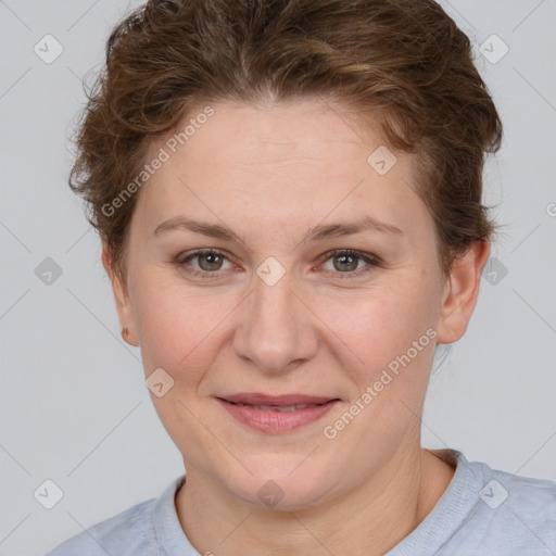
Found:
<path fill-rule="evenodd" d="M 433 1 L 149 1 L 71 185 L 187 472 L 49 553 L 548 555 L 556 483 L 420 445 L 502 125 Z"/>

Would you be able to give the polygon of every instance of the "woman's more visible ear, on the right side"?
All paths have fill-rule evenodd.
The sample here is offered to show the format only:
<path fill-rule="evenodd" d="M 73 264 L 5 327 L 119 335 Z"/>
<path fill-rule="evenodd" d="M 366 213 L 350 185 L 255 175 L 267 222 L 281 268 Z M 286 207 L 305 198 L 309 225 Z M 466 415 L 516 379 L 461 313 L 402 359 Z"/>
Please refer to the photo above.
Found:
<path fill-rule="evenodd" d="M 481 282 L 481 271 L 490 253 L 489 241 L 476 241 L 456 257 L 446 278 L 444 299 L 438 326 L 438 342 L 452 343 L 467 330 Z"/>

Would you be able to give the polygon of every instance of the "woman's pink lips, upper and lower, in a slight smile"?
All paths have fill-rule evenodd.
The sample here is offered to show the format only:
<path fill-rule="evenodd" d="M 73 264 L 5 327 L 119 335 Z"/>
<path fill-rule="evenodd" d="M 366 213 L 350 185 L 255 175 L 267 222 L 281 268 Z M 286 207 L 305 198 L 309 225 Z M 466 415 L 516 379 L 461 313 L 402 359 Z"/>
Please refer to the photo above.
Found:
<path fill-rule="evenodd" d="M 340 400 L 303 394 L 266 395 L 240 393 L 216 397 L 216 401 L 239 422 L 257 431 L 280 434 L 307 426 L 324 417 Z M 248 405 L 239 405 L 248 404 Z M 318 405 L 315 405 L 318 404 Z M 292 410 L 261 409 L 254 406 L 312 405 Z"/>

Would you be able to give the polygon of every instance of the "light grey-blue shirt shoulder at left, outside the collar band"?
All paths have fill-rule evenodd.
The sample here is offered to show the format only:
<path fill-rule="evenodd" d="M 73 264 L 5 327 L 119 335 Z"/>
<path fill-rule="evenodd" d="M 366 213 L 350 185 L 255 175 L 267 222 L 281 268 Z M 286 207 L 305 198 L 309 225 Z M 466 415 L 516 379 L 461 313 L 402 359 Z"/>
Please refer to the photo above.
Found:
<path fill-rule="evenodd" d="M 172 501 L 178 480 L 157 498 L 131 506 L 58 545 L 46 556 L 147 556 L 157 554 L 155 516 Z"/>

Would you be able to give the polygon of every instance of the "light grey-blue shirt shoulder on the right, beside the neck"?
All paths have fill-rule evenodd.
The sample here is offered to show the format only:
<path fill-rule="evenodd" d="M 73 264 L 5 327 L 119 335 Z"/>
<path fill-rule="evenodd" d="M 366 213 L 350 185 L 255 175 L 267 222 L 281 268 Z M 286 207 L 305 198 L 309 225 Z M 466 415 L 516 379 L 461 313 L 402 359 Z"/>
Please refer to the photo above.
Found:
<path fill-rule="evenodd" d="M 392 556 L 554 556 L 556 482 L 432 451 L 455 467 L 447 490 Z M 389 553 L 390 556 L 390 553 Z"/>

